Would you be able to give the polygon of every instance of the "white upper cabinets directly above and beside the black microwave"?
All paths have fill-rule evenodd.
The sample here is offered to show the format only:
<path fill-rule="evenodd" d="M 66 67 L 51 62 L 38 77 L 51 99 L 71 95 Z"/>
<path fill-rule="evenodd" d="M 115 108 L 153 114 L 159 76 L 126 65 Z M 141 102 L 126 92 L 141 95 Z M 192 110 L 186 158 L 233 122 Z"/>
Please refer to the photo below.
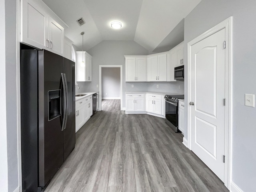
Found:
<path fill-rule="evenodd" d="M 183 42 L 169 51 L 167 62 L 167 81 L 174 80 L 174 67 L 184 65 L 184 45 Z"/>

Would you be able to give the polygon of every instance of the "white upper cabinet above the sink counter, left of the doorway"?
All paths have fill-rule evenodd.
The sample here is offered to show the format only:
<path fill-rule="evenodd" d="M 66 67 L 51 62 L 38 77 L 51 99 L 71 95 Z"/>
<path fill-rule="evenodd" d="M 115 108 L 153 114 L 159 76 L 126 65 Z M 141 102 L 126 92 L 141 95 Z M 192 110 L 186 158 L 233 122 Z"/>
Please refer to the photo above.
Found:
<path fill-rule="evenodd" d="M 85 51 L 76 52 L 76 81 L 92 81 L 92 56 Z"/>

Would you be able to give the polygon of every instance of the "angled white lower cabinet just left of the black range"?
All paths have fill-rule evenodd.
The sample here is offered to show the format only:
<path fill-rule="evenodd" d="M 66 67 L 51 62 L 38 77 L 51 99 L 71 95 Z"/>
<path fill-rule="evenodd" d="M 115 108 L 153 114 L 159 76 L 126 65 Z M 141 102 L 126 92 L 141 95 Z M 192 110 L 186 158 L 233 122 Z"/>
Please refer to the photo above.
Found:
<path fill-rule="evenodd" d="M 162 115 L 161 95 L 146 94 L 146 112 Z"/>

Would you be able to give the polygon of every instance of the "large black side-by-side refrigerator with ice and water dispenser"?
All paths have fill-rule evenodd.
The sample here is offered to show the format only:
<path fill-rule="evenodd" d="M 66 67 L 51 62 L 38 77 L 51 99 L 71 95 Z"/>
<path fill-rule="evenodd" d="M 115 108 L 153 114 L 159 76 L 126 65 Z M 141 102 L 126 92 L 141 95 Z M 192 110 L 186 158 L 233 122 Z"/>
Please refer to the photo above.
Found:
<path fill-rule="evenodd" d="M 22 192 L 44 191 L 75 147 L 75 63 L 21 46 Z"/>

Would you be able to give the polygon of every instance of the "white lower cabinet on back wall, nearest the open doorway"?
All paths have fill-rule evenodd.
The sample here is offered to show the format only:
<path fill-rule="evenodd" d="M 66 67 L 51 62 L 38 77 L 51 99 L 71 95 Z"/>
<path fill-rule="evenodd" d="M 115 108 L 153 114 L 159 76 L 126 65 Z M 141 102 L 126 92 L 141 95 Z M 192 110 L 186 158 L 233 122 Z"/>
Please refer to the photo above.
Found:
<path fill-rule="evenodd" d="M 126 94 L 126 111 L 141 112 L 144 109 L 144 94 Z"/>

